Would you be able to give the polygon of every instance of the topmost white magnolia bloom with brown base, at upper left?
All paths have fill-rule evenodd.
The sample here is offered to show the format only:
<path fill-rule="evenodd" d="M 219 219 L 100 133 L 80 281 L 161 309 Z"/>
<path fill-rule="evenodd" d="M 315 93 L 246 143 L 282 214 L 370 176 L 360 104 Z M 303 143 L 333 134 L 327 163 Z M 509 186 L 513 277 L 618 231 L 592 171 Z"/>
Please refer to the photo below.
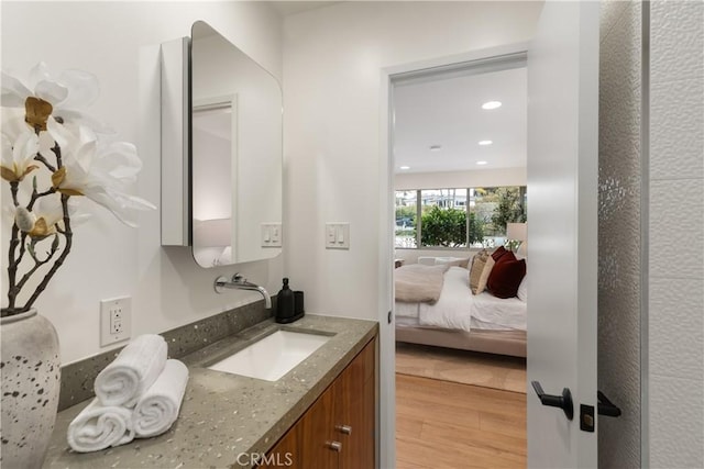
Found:
<path fill-rule="evenodd" d="M 85 114 L 82 109 L 92 104 L 100 94 L 96 76 L 82 70 L 65 70 L 54 78 L 45 63 L 30 70 L 29 87 L 2 71 L 2 107 L 24 108 L 28 98 L 38 98 L 52 107 L 52 115 L 62 122 L 89 125 L 96 132 L 112 132 L 105 123 Z"/>

